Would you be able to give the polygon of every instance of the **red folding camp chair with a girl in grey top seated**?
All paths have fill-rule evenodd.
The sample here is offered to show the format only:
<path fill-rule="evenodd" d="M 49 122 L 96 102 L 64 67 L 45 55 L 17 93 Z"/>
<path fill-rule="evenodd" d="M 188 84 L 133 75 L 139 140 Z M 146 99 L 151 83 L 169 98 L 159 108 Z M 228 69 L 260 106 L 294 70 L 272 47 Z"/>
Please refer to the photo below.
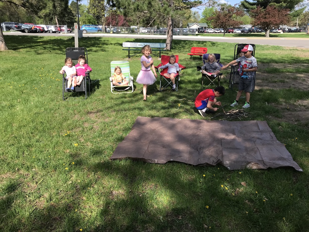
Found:
<path fill-rule="evenodd" d="M 176 56 L 176 63 L 178 63 L 178 55 Z M 159 64 L 158 66 L 155 66 L 155 68 L 159 71 L 159 67 L 166 65 L 168 62 L 170 61 L 170 56 L 166 56 L 166 55 L 161 55 L 161 64 Z M 185 69 L 186 67 L 182 66 L 180 63 L 178 63 L 180 71 L 182 69 Z M 167 73 L 168 68 L 164 68 L 161 70 L 160 72 L 160 91 L 163 91 L 163 89 L 165 89 L 168 86 L 171 86 L 171 88 L 173 88 L 173 83 L 171 81 L 171 79 L 169 77 L 164 76 L 165 73 Z M 175 84 L 176 84 L 176 88 L 175 90 L 178 91 L 178 81 L 180 80 L 179 78 L 179 72 L 177 72 L 177 75 L 175 76 Z"/>

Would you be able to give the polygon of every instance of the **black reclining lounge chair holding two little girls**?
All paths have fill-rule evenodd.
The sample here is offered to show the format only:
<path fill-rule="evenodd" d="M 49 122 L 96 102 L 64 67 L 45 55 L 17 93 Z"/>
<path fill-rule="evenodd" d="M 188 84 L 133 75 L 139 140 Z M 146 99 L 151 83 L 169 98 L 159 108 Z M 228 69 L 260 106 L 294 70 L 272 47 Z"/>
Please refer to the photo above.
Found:
<path fill-rule="evenodd" d="M 72 59 L 72 62 L 74 65 L 77 64 L 78 57 L 80 55 L 85 56 L 86 63 L 88 64 L 88 52 L 86 48 L 67 48 L 66 49 L 66 57 L 70 57 Z M 68 85 L 68 80 L 66 79 L 66 74 L 63 74 L 62 77 L 62 98 L 64 101 L 67 101 L 67 94 L 72 94 L 72 92 L 65 92 L 66 86 Z M 91 79 L 89 72 L 86 72 L 86 76 L 81 82 L 80 86 L 76 86 L 74 92 L 84 92 L 85 93 L 85 99 L 87 99 L 87 93 L 90 94 L 91 90 Z"/>

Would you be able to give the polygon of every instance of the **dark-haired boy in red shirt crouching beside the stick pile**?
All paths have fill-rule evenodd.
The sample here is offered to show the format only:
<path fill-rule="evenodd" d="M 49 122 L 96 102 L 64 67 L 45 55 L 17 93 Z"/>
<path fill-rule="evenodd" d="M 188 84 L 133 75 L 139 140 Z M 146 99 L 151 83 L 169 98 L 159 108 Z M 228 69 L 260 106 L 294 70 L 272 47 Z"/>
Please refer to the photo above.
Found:
<path fill-rule="evenodd" d="M 206 113 L 214 113 L 218 110 L 218 108 L 214 108 L 214 105 L 221 106 L 221 102 L 217 101 L 216 97 L 220 97 L 224 93 L 224 87 L 218 86 L 215 89 L 205 89 L 197 95 L 194 105 L 202 117 L 205 117 Z"/>

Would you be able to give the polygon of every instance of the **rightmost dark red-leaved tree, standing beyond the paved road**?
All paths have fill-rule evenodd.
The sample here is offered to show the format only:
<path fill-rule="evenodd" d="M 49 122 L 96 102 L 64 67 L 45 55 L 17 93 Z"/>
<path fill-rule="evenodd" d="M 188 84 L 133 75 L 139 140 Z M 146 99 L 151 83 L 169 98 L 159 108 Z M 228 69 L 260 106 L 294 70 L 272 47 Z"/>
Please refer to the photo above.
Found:
<path fill-rule="evenodd" d="M 251 10 L 251 16 L 254 19 L 253 25 L 265 29 L 265 37 L 269 37 L 270 28 L 278 28 L 280 24 L 289 22 L 289 9 L 281 9 L 269 5 L 265 9 L 260 6 Z"/>

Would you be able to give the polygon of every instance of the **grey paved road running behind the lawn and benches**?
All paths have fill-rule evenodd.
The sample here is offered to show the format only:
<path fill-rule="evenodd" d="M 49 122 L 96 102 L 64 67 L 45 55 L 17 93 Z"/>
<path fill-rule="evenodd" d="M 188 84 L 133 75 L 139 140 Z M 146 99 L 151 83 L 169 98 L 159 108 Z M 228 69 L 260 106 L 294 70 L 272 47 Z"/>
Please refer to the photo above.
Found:
<path fill-rule="evenodd" d="M 74 33 L 58 34 L 58 33 L 21 33 L 8 32 L 5 35 L 27 35 L 27 36 L 74 36 Z M 85 34 L 84 37 L 123 37 L 123 38 L 144 38 L 144 39 L 166 39 L 166 36 L 160 35 L 126 35 L 126 34 Z M 173 36 L 176 40 L 192 40 L 192 41 L 213 41 L 227 43 L 251 43 L 260 45 L 277 45 L 285 47 L 297 47 L 309 49 L 308 38 L 257 38 L 257 37 L 207 37 L 207 36 Z"/>

